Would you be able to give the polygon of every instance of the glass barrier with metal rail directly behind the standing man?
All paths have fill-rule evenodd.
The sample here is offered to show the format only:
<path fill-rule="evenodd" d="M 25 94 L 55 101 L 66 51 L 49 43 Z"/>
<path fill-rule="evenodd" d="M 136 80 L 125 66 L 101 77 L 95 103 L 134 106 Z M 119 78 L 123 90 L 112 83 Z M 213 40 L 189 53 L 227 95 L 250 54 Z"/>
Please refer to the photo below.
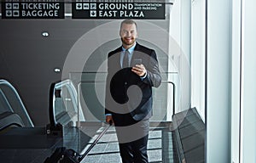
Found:
<path fill-rule="evenodd" d="M 161 73 L 160 87 L 153 88 L 153 117 L 150 121 L 172 121 L 180 97 L 177 73 Z M 106 72 L 73 72 L 70 79 L 78 89 L 79 110 L 84 121 L 105 121 Z M 171 80 L 172 79 L 172 80 Z M 80 121 L 82 121 L 80 119 Z"/>

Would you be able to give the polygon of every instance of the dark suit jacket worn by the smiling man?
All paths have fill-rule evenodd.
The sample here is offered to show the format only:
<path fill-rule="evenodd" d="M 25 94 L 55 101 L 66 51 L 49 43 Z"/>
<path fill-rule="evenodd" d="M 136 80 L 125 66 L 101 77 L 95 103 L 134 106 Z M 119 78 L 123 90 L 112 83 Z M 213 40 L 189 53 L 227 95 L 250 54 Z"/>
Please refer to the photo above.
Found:
<path fill-rule="evenodd" d="M 152 115 L 152 87 L 159 87 L 161 82 L 159 65 L 153 49 L 137 43 L 131 58 L 142 59 L 147 76 L 142 80 L 130 68 L 122 69 L 119 47 L 108 53 L 108 76 L 106 83 L 105 114 L 113 116 L 131 114 L 135 121 Z"/>

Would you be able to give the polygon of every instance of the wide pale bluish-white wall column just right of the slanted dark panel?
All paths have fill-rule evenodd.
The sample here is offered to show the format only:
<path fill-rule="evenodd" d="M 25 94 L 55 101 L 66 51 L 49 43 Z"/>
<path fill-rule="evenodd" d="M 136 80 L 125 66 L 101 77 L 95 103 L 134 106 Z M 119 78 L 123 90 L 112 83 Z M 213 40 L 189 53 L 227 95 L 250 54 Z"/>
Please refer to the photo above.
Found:
<path fill-rule="evenodd" d="M 230 162 L 231 6 L 207 1 L 207 163 Z"/>

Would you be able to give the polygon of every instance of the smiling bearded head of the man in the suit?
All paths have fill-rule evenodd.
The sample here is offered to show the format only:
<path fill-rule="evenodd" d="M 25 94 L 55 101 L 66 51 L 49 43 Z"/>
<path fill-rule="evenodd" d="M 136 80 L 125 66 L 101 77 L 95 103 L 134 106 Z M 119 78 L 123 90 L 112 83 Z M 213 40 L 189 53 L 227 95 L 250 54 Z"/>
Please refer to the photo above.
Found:
<path fill-rule="evenodd" d="M 135 24 L 123 23 L 120 27 L 119 36 L 121 37 L 123 47 L 131 48 L 137 38 L 137 26 Z"/>

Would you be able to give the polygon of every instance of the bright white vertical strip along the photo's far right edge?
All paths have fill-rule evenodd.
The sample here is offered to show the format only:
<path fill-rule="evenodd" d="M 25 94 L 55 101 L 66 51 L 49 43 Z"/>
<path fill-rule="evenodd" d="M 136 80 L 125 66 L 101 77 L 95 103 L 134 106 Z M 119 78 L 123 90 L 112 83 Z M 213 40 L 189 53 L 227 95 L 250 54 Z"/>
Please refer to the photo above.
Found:
<path fill-rule="evenodd" d="M 241 163 L 256 162 L 256 1 L 242 1 Z"/>

